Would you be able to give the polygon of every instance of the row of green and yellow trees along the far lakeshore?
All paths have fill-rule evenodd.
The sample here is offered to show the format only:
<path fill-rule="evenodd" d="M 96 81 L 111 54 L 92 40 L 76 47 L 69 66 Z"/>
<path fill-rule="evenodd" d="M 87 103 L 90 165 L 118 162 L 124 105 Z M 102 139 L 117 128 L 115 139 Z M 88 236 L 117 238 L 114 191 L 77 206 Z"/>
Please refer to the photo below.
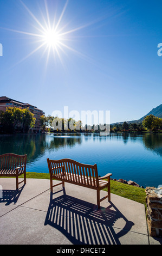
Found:
<path fill-rule="evenodd" d="M 7 110 L 0 112 L 0 133 L 28 133 L 35 126 L 36 118 L 29 109 L 21 109 L 17 107 L 9 107 Z M 55 123 L 55 127 L 53 127 Z M 85 125 L 82 127 L 81 120 L 73 118 L 64 119 L 53 117 L 51 115 L 41 115 L 40 127 L 41 132 L 101 132 L 105 131 L 106 124 Z M 68 129 L 67 129 L 68 127 Z M 162 119 L 150 114 L 147 115 L 141 123 L 116 123 L 110 125 L 110 132 L 146 132 L 146 131 L 162 131 Z"/>

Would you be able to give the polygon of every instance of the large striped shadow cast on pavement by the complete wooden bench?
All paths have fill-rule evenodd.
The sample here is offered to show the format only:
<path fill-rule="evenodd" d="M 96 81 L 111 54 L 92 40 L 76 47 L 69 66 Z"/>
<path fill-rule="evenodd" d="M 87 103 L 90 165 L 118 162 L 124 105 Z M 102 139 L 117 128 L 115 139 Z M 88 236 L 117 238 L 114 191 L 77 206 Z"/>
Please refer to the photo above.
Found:
<path fill-rule="evenodd" d="M 68 196 L 64 188 L 63 195 L 53 199 L 56 193 L 50 193 L 44 225 L 61 231 L 74 245 L 120 245 L 119 237 L 134 225 L 112 202 L 107 208 L 96 209 L 94 204 Z M 113 225 L 119 218 L 124 219 L 125 226 L 114 231 Z"/>

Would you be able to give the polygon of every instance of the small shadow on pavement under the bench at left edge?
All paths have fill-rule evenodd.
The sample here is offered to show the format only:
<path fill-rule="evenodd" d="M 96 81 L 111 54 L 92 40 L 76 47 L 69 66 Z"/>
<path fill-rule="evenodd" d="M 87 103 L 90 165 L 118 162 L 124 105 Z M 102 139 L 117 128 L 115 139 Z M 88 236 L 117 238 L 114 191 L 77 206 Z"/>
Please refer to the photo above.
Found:
<path fill-rule="evenodd" d="M 25 185 L 18 188 L 18 190 L 2 190 L 2 197 L 0 197 L 0 203 L 6 203 L 5 205 L 9 205 L 11 203 L 16 204 L 24 186 Z"/>

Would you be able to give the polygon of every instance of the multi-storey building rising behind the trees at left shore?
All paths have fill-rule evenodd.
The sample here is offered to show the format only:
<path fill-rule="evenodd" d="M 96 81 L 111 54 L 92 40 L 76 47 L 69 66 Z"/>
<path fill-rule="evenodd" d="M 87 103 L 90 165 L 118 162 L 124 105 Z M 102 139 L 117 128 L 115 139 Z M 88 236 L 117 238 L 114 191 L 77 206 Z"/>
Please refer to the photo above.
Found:
<path fill-rule="evenodd" d="M 31 132 L 36 133 L 41 132 L 42 127 L 40 124 L 40 117 L 44 114 L 44 112 L 41 109 L 38 109 L 37 107 L 30 105 L 29 103 L 23 103 L 21 101 L 12 100 L 6 96 L 0 97 L 0 111 L 6 111 L 8 107 L 29 108 L 29 111 L 33 113 L 34 117 L 36 118 L 35 127 L 30 130 Z"/>

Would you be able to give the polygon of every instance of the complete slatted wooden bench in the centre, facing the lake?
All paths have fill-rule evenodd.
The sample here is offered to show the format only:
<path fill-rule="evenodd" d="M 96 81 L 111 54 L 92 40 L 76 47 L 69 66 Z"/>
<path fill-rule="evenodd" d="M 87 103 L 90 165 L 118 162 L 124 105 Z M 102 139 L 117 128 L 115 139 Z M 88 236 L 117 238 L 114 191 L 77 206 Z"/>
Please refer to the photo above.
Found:
<path fill-rule="evenodd" d="M 50 190 L 53 192 L 53 187 L 69 182 L 75 185 L 92 188 L 97 192 L 97 205 L 100 208 L 100 202 L 108 197 L 111 200 L 110 176 L 108 173 L 99 178 L 97 165 L 82 164 L 71 159 L 50 160 L 47 159 L 49 174 L 50 174 Z M 103 180 L 106 179 L 107 181 Z M 59 184 L 53 185 L 53 179 L 60 180 Z M 107 196 L 100 199 L 100 190 L 108 188 Z"/>

